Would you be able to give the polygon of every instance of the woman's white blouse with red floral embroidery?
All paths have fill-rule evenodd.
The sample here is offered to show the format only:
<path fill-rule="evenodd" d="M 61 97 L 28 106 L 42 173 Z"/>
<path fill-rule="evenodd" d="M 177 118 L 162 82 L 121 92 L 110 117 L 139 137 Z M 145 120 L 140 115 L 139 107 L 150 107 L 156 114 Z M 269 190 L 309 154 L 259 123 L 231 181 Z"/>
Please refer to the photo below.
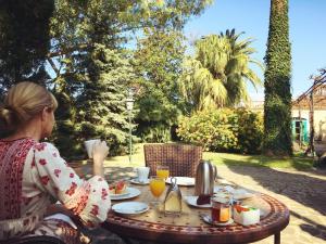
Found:
<path fill-rule="evenodd" d="M 68 232 L 58 234 L 64 221 L 43 219 L 48 206 L 57 201 L 88 227 L 104 221 L 111 206 L 103 178 L 80 179 L 55 146 L 33 139 L 0 140 L 0 240 Z"/>

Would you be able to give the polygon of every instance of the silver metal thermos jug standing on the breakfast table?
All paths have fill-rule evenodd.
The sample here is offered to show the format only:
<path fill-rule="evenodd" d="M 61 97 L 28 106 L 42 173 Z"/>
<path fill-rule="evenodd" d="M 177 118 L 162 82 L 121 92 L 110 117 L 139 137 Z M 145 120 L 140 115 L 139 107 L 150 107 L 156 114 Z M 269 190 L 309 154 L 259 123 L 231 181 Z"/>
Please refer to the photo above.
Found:
<path fill-rule="evenodd" d="M 195 195 L 212 195 L 217 169 L 210 160 L 200 160 L 196 171 Z"/>

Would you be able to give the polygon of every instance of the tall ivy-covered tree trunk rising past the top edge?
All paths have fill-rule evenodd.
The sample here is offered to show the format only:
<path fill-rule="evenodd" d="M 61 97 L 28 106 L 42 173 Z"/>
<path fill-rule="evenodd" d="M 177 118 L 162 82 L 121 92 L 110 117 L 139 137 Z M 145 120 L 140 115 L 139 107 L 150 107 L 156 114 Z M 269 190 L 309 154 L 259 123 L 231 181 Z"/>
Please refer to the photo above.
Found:
<path fill-rule="evenodd" d="M 264 151 L 291 155 L 291 47 L 288 0 L 271 0 L 265 55 Z"/>

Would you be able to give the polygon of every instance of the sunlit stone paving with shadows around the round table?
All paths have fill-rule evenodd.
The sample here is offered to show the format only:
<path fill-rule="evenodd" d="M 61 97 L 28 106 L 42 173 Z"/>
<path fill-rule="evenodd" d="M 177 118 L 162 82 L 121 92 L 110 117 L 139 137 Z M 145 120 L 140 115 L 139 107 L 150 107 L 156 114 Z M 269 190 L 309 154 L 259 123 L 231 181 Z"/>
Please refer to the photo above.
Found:
<path fill-rule="evenodd" d="M 127 162 L 127 159 L 126 159 Z M 298 171 L 248 166 L 218 166 L 218 176 L 248 189 L 269 194 L 290 209 L 290 223 L 281 232 L 284 244 L 325 244 L 326 242 L 326 171 Z M 90 171 L 84 166 L 85 174 Z M 126 164 L 108 163 L 109 181 L 135 176 Z M 105 230 L 91 231 L 95 244 L 123 244 L 115 234 Z M 138 243 L 138 242 L 133 242 Z M 273 244 L 273 237 L 256 244 Z"/>

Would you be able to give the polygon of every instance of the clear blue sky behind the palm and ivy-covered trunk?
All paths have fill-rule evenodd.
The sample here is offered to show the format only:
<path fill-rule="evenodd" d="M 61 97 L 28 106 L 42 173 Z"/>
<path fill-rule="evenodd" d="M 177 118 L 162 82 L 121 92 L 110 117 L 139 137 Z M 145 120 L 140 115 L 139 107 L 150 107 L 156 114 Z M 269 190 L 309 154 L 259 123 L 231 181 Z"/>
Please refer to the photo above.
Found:
<path fill-rule="evenodd" d="M 271 0 L 215 0 L 203 14 L 185 27 L 188 38 L 199 38 L 235 28 L 252 37 L 256 53 L 252 57 L 263 63 L 268 36 Z M 290 42 L 292 55 L 292 95 L 297 98 L 312 85 L 310 75 L 326 67 L 326 0 L 289 0 Z M 240 38 L 241 39 L 241 38 Z M 252 66 L 263 80 L 263 73 Z M 249 86 L 252 100 L 263 100 L 264 91 Z"/>

